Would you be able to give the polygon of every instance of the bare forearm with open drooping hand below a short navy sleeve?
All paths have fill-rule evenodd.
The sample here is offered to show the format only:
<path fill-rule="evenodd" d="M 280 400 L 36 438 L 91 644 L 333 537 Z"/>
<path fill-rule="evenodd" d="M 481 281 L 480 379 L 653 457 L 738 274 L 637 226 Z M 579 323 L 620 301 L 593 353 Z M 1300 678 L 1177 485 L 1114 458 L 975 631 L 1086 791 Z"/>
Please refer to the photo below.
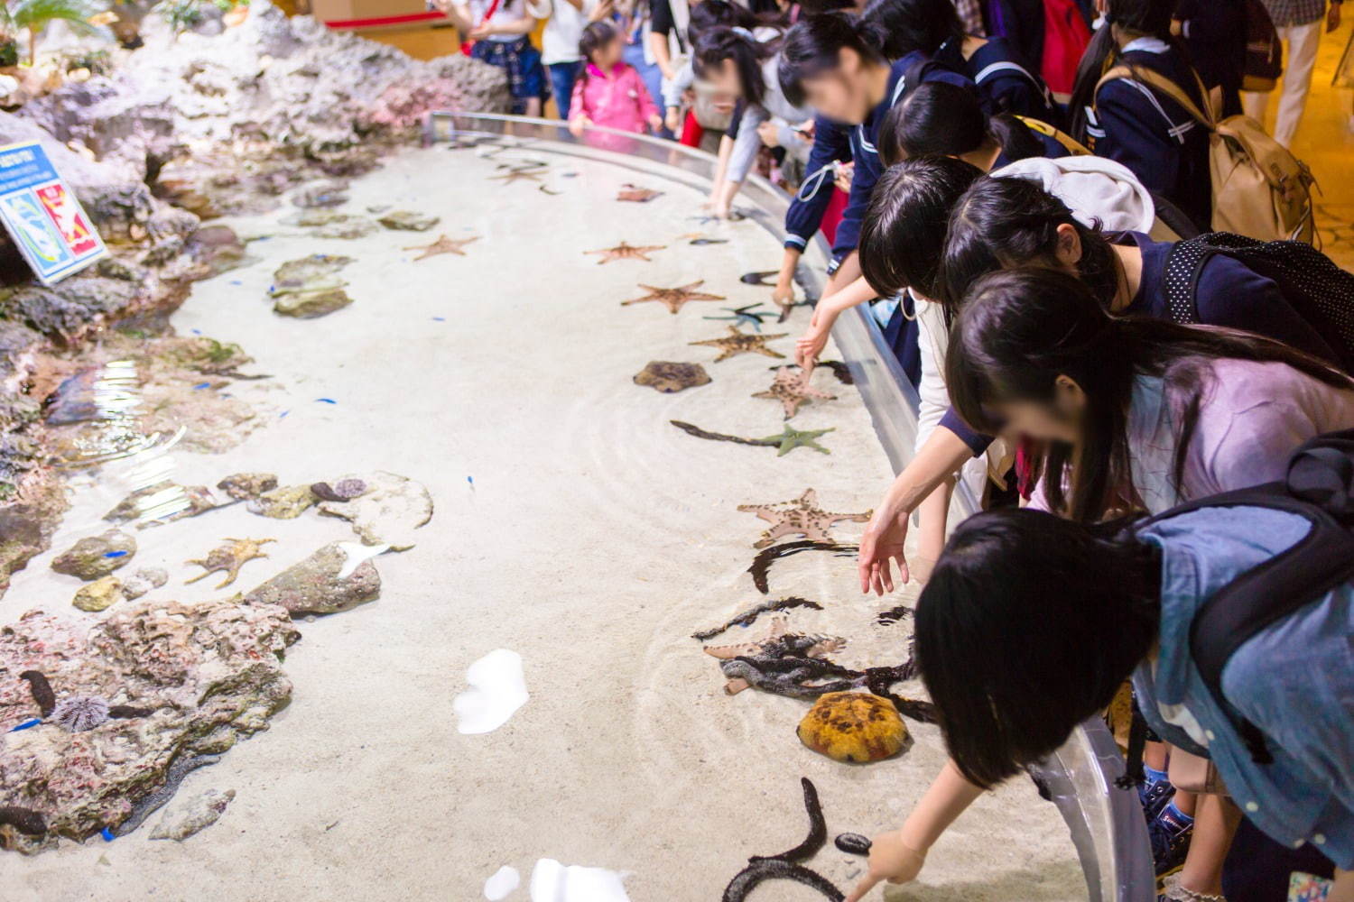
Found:
<path fill-rule="evenodd" d="M 903 553 L 907 518 L 972 456 L 972 449 L 959 435 L 937 426 L 913 461 L 894 479 L 860 540 L 861 592 L 883 595 L 894 591 L 891 560 L 898 563 L 899 583 L 907 583 L 910 573 Z"/>

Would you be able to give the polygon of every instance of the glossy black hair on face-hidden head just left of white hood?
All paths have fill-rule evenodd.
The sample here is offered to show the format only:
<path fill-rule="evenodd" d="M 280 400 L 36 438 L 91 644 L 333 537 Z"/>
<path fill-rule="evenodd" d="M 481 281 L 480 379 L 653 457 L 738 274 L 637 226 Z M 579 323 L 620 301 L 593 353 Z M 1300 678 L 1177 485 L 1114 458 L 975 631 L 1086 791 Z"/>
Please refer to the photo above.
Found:
<path fill-rule="evenodd" d="M 909 287 L 936 296 L 949 214 L 982 174 L 953 157 L 914 157 L 884 170 L 860 230 L 860 269 L 880 298 Z"/>

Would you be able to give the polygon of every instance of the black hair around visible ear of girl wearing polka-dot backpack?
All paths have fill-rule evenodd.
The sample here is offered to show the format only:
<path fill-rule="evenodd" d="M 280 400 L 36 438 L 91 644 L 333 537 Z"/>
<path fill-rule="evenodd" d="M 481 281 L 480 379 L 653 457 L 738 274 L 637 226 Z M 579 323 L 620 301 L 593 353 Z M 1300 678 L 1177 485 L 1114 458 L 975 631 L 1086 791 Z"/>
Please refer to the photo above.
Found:
<path fill-rule="evenodd" d="M 988 177 L 974 183 L 951 216 L 936 295 L 946 318 L 953 321 L 969 287 L 990 272 L 1010 266 L 1056 268 L 1059 226 L 1076 230 L 1082 245 L 1076 273 L 1095 300 L 1109 308 L 1121 275 L 1099 223 L 1085 226 L 1039 183 Z"/>

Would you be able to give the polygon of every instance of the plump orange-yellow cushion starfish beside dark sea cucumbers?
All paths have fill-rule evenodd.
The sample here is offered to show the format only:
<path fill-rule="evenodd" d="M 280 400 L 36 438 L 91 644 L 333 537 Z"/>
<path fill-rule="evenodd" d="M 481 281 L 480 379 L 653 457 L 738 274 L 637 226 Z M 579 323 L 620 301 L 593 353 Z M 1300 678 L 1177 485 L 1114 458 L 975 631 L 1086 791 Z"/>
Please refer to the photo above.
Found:
<path fill-rule="evenodd" d="M 869 764 L 898 755 L 907 726 L 894 703 L 868 692 L 827 692 L 796 730 L 807 748 L 834 761 Z"/>

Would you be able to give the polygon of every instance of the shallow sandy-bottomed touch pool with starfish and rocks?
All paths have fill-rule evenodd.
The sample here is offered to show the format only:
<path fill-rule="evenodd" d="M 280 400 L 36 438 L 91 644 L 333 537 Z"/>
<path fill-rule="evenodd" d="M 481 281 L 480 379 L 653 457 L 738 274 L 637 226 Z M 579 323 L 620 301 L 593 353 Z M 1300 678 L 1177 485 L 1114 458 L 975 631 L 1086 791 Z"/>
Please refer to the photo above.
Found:
<path fill-rule="evenodd" d="M 756 218 L 704 220 L 686 173 L 623 165 L 609 151 L 624 147 L 517 145 L 406 151 L 332 204 L 321 189 L 303 201 L 321 206 L 227 219 L 252 239 L 248 257 L 199 283 L 172 316 L 187 343 L 130 334 L 100 348 L 93 402 L 153 406 L 160 441 L 177 445 L 72 479 L 51 550 L 5 596 L 9 650 L 15 634 L 37 636 L 27 648 L 56 663 L 58 696 L 81 686 L 79 655 L 34 642 L 61 630 L 93 629 L 104 646 L 161 630 L 146 641 L 167 657 L 213 636 L 217 657 L 203 667 L 234 667 L 245 682 L 268 673 L 253 707 L 219 713 L 207 737 L 183 734 L 184 760 L 219 757 L 173 774 L 177 794 L 144 826 L 5 856 L 7 890 L 18 887 L 5 898 L 180 898 L 191 886 L 196 898 L 343 899 L 380 887 L 475 899 L 496 874 L 494 894 L 510 883 L 505 867 L 521 879 L 506 898 L 624 898 L 607 895 L 619 884 L 601 872 L 573 872 L 601 888 L 552 894 L 546 884 L 565 875 L 539 864 L 550 860 L 624 875 L 636 902 L 718 899 L 749 856 L 803 840 L 802 778 L 829 833 L 806 864 L 848 890 L 862 859 L 830 837 L 895 826 L 937 772 L 938 730 L 915 719 L 904 721 L 910 744 L 881 763 L 807 749 L 795 730 L 810 701 L 728 695 L 722 660 L 692 638 L 789 598 L 812 604 L 762 613 L 704 645 L 784 630 L 827 642 L 853 672 L 906 660 L 906 614 L 881 615 L 911 598 L 860 596 L 849 550 L 777 557 L 765 594 L 749 573 L 758 546 L 804 538 L 776 534 L 785 502 L 861 514 L 891 476 L 848 384 L 877 379 L 879 362 L 821 368 L 807 399 L 787 403 L 785 373 L 773 369 L 808 311 L 780 323 L 769 291 L 741 279 L 779 258 Z M 437 222 L 408 229 L 420 218 Z M 280 316 L 275 304 L 333 312 Z M 826 356 L 849 357 L 834 346 Z M 699 364 L 709 381 L 654 362 Z M 73 454 L 141 441 L 110 429 L 70 427 Z M 165 480 L 204 487 L 210 510 Z M 131 519 L 104 519 L 144 485 Z M 185 503 L 196 515 L 138 529 Z M 842 546 L 858 536 L 852 518 L 810 519 Z M 88 583 L 51 564 L 114 527 L 135 550 L 112 575 L 162 569 L 168 583 L 84 613 L 72 598 Z M 127 552 L 108 541 L 88 546 L 95 569 L 107 565 L 99 556 Z M 378 554 L 383 545 L 394 548 Z M 250 603 L 223 600 L 233 592 Z M 268 621 L 279 602 L 291 622 Z M 131 614 L 148 606 L 154 617 Z M 32 610 L 42 613 L 24 617 Z M 294 632 L 302 641 L 291 645 Z M 241 667 L 241 656 L 261 663 Z M 468 680 L 487 699 L 464 695 L 473 665 Z M 149 741 L 144 721 L 181 719 L 218 691 L 209 675 L 203 695 L 185 698 L 172 679 L 138 672 L 137 698 L 122 698 L 114 676 L 95 687 L 149 714 L 84 733 L 8 733 L 0 761 L 74 749 L 126 763 Z M 919 682 L 892 688 L 914 699 Z M 35 714 L 31 699 L 4 702 L 3 729 Z M 119 730 L 126 741 L 99 742 Z M 133 786 L 135 798 L 103 799 L 112 822 L 149 794 Z M 153 840 L 190 802 L 215 806 L 219 820 L 183 842 Z M 823 897 L 780 882 L 749 898 Z M 1086 882 L 1057 809 L 1021 779 L 982 799 L 933 849 L 922 880 L 887 898 L 1082 899 Z"/>

